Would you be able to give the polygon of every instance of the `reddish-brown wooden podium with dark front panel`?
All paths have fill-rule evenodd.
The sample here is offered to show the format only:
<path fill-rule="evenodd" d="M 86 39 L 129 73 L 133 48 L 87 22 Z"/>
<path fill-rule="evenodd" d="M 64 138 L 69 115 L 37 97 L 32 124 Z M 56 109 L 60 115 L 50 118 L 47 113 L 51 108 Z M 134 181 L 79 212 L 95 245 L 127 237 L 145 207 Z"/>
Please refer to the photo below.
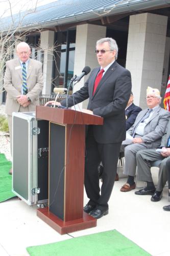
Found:
<path fill-rule="evenodd" d="M 102 125 L 103 118 L 47 106 L 37 106 L 36 118 L 50 121 L 48 207 L 37 216 L 60 234 L 95 227 L 83 211 L 85 125 Z"/>

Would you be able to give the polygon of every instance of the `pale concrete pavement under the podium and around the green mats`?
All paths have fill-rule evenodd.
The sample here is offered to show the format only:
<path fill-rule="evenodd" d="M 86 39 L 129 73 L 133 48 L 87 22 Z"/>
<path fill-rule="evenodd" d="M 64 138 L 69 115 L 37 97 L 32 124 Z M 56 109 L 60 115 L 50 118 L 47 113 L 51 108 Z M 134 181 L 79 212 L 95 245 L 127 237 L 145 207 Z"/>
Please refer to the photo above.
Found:
<path fill-rule="evenodd" d="M 157 178 L 156 169 L 154 176 Z M 28 246 L 112 229 L 116 229 L 151 255 L 170 255 L 170 212 L 162 209 L 168 204 L 167 187 L 164 188 L 161 201 L 154 203 L 150 200 L 151 196 L 136 196 L 134 190 L 120 192 L 125 181 L 124 178 L 115 182 L 109 201 L 109 215 L 99 219 L 95 228 L 62 236 L 36 216 L 37 206 L 28 206 L 17 198 L 1 203 L 0 255 L 28 255 Z M 84 204 L 87 201 L 85 195 Z"/>

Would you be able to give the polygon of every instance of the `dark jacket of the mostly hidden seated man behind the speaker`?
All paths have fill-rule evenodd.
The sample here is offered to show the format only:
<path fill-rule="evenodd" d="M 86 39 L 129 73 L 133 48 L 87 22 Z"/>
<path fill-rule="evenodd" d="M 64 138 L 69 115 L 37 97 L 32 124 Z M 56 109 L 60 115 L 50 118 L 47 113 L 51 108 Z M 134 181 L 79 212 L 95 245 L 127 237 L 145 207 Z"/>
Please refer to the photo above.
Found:
<path fill-rule="evenodd" d="M 135 119 L 138 115 L 138 113 L 142 109 L 139 106 L 136 106 L 134 103 L 132 103 L 126 110 L 125 110 L 125 115 L 126 115 L 126 130 L 128 131 L 129 128 L 134 124 Z"/>

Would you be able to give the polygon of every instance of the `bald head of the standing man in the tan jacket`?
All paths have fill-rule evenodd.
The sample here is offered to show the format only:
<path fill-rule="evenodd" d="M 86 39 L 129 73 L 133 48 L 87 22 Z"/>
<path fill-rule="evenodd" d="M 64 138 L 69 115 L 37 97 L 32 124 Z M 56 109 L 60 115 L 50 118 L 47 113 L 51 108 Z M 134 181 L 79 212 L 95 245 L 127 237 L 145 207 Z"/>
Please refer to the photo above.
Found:
<path fill-rule="evenodd" d="M 22 62 L 26 62 L 31 54 L 31 49 L 27 42 L 20 42 L 16 47 L 16 53 Z"/>

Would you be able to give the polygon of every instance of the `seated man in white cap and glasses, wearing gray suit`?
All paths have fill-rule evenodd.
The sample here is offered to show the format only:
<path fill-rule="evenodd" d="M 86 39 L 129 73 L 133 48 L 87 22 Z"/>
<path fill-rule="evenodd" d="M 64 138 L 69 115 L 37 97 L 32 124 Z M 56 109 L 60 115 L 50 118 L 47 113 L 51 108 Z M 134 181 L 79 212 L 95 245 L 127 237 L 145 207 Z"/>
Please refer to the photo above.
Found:
<path fill-rule="evenodd" d="M 170 117 L 170 112 L 162 109 L 160 92 L 148 87 L 148 109 L 139 112 L 132 127 L 127 131 L 133 137 L 132 144 L 125 147 L 124 174 L 128 175 L 127 183 L 120 191 L 127 192 L 135 189 L 134 176 L 136 173 L 136 153 L 140 150 L 156 148 L 160 145 L 161 137 Z"/>

